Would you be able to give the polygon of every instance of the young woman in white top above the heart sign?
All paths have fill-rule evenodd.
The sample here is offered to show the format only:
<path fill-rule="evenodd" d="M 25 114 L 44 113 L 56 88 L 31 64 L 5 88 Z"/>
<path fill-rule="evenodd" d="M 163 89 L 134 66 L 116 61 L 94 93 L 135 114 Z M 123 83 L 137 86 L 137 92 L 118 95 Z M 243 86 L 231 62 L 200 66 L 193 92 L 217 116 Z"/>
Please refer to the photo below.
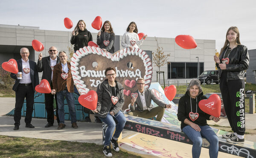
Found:
<path fill-rule="evenodd" d="M 129 48 L 132 50 L 133 47 L 139 48 L 139 45 L 142 45 L 144 38 L 147 37 L 147 35 L 143 36 L 141 40 L 139 40 L 138 36 L 138 28 L 135 22 L 131 22 L 128 25 L 128 28 L 126 29 L 127 32 L 122 37 L 122 47 L 123 48 Z"/>

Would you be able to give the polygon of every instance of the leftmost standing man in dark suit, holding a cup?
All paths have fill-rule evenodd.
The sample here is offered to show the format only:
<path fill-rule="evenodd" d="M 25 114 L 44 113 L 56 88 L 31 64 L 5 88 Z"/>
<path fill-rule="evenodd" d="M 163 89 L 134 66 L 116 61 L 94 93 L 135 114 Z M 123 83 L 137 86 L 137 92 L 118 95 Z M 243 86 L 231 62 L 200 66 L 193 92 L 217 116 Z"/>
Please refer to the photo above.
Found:
<path fill-rule="evenodd" d="M 15 91 L 15 110 L 14 121 L 15 127 L 13 130 L 18 130 L 20 127 L 21 109 L 23 107 L 24 99 L 26 97 L 26 117 L 25 123 L 28 128 L 35 128 L 31 124 L 32 112 L 34 105 L 35 86 L 39 84 L 38 71 L 36 69 L 36 62 L 29 60 L 29 49 L 20 49 L 21 59 L 17 60 L 18 70 L 22 76 L 11 73 L 11 77 L 15 79 L 15 84 L 12 90 Z M 19 79 L 18 79 L 19 78 Z"/>

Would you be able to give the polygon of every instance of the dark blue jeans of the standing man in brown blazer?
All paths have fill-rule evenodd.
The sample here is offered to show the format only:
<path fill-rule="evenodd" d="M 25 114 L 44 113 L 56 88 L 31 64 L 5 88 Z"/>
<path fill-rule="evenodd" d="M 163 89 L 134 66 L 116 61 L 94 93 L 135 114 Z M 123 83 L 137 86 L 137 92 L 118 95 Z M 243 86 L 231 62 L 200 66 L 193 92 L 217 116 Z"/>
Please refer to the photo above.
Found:
<path fill-rule="evenodd" d="M 58 116 L 60 123 L 64 124 L 65 122 L 65 113 L 64 113 L 64 96 L 66 96 L 68 110 L 70 113 L 71 124 L 76 122 L 76 108 L 75 108 L 75 99 L 73 93 L 68 92 L 67 89 L 64 89 L 56 93 L 57 102 L 58 102 Z"/>

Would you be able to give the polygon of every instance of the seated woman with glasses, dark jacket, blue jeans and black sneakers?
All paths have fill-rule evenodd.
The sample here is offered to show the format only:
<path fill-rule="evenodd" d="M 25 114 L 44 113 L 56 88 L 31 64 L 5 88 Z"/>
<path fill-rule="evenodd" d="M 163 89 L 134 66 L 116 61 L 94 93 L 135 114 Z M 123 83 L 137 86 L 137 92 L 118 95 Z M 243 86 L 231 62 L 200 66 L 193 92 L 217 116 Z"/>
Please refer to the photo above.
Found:
<path fill-rule="evenodd" d="M 108 125 L 103 153 L 106 156 L 112 156 L 110 143 L 113 145 L 113 150 L 118 152 L 119 147 L 117 139 L 125 127 L 126 118 L 121 111 L 125 100 L 123 87 L 121 83 L 116 81 L 116 69 L 111 67 L 107 68 L 105 75 L 107 79 L 99 84 L 96 90 L 98 103 L 96 110 L 93 110 L 93 112 L 95 112 L 95 116 L 98 116 L 102 122 Z M 115 121 L 117 121 L 117 124 Z M 114 133 L 115 127 L 116 131 Z"/>

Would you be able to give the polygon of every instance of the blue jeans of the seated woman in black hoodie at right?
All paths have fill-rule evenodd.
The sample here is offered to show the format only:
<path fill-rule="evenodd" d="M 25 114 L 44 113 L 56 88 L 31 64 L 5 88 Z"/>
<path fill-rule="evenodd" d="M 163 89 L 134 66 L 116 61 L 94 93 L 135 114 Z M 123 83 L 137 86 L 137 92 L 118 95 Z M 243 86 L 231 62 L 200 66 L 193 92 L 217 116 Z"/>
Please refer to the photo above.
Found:
<path fill-rule="evenodd" d="M 209 126 L 199 126 L 201 131 L 194 130 L 191 126 L 186 126 L 182 131 L 189 137 L 193 142 L 192 156 L 193 158 L 199 158 L 202 147 L 202 136 L 207 139 L 210 143 L 209 156 L 210 158 L 218 158 L 218 136 Z"/>

